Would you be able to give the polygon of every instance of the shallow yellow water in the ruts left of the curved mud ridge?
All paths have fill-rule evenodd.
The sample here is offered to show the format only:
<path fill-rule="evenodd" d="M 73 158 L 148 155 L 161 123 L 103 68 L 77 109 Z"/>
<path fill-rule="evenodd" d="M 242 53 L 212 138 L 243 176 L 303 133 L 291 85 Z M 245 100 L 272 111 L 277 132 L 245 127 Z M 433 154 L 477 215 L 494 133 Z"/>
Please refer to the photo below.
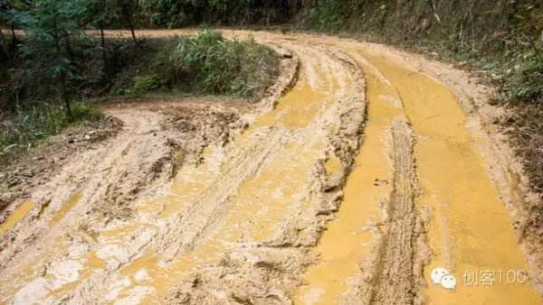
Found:
<path fill-rule="evenodd" d="M 224 216 L 209 225 L 220 226 L 219 229 L 204 232 L 207 235 L 201 242 L 181 248 L 169 262 L 154 247 L 131 258 L 120 266 L 119 281 L 110 287 L 109 294 L 100 296 L 101 300 L 111 303 L 155 302 L 165 297 L 167 291 L 196 266 L 218 263 L 224 253 L 232 251 L 239 243 L 262 242 L 271 238 L 276 226 L 281 226 L 282 219 L 290 213 L 298 213 L 310 200 L 310 172 L 323 157 L 329 130 L 329 126 L 316 121 L 327 116 L 336 98 L 345 98 L 351 90 L 352 79 L 348 73 L 334 71 L 319 60 L 304 61 L 296 86 L 281 97 L 273 110 L 260 116 L 226 147 L 206 148 L 205 162 L 180 169 L 171 185 L 166 187 L 166 192 L 138 203 L 138 217 L 135 218 L 138 221 L 108 226 L 101 231 L 95 241 L 97 250 L 77 261 L 77 276 L 69 281 L 61 281 L 54 276 L 47 279 L 54 282 L 50 285 L 54 289 L 43 291 L 41 300 L 61 300 L 92 273 L 104 272 L 110 268 L 110 263 L 125 259 L 122 247 L 132 243 L 131 238 L 138 232 L 157 233 L 161 223 L 176 222 L 194 202 L 209 199 L 209 202 L 203 202 L 207 205 L 214 204 L 215 199 L 222 199 L 215 196 L 229 194 L 231 190 L 227 188 L 234 188 L 235 196 L 224 195 L 227 200 Z M 244 162 L 254 162 L 254 157 L 260 158 L 258 154 L 261 152 L 261 168 L 236 185 L 235 180 L 243 176 L 248 165 Z M 55 213 L 50 225 L 58 226 L 80 199 L 81 192 L 72 195 Z M 202 217 L 202 222 L 212 218 L 211 214 Z M 188 227 L 192 229 L 192 226 Z M 40 262 L 33 264 L 39 265 Z"/>

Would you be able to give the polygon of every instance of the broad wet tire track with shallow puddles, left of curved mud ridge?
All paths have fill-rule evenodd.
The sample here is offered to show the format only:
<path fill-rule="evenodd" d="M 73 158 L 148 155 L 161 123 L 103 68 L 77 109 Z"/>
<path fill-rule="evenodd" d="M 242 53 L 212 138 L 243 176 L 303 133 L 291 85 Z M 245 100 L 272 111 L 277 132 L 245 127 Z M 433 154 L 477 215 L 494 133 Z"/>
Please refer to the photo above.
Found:
<path fill-rule="evenodd" d="M 249 299 L 258 302 L 270 296 L 271 286 L 276 291 L 291 290 L 293 274 L 307 260 L 301 249 L 290 246 L 300 244 L 300 236 L 291 235 L 291 225 L 315 217 L 297 213 L 296 207 L 314 197 L 317 200 L 305 207 L 311 213 L 328 202 L 328 197 L 318 199 L 323 189 L 311 185 L 325 177 L 326 172 L 317 169 L 327 153 L 337 151 L 340 158 L 349 158 L 356 152 L 364 101 L 351 96 L 351 70 L 341 56 L 304 44 L 285 43 L 284 47 L 312 56 L 300 57 L 298 84 L 273 110 L 220 149 L 223 156 L 213 161 L 219 168 L 208 171 L 204 164 L 206 173 L 194 178 L 197 168 L 181 169 L 173 188 L 182 196 L 173 200 L 186 202 L 179 202 L 171 216 L 155 221 L 157 237 L 146 241 L 138 236 L 148 233 L 130 234 L 136 240 L 127 246 L 128 262 L 108 276 L 95 273 L 71 293 L 71 302 L 157 302 L 172 289 L 177 290 L 176 298 L 183 297 L 185 288 L 180 283 L 194 281 L 201 284 L 190 292 L 193 303 L 244 300 L 243 290 L 252 291 Z M 320 66 L 323 62 L 326 67 Z M 292 212 L 296 220 L 283 222 Z M 140 239 L 143 244 L 138 244 Z M 287 257 L 288 261 L 281 262 Z M 281 273 L 264 280 L 262 275 L 271 272 L 266 268 Z M 139 273 L 146 273 L 146 279 L 140 279 Z M 226 281 L 220 275 L 224 273 L 239 276 Z M 226 299 L 214 300 L 216 296 L 208 291 L 215 290 L 225 291 Z M 108 291 L 113 292 L 108 295 Z M 284 294 L 278 298 L 286 300 Z"/>

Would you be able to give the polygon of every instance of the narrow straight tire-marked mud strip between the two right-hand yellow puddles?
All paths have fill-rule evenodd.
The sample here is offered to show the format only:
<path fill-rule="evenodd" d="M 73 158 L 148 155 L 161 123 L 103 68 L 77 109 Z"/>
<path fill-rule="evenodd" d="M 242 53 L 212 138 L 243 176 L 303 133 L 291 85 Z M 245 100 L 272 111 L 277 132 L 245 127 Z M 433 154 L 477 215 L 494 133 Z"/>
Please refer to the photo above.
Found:
<path fill-rule="evenodd" d="M 404 118 L 396 118 L 391 128 L 394 167 L 393 190 L 387 204 L 389 218 L 376 263 L 373 304 L 412 304 L 418 293 L 414 279 L 417 216 L 416 173 L 414 171 L 413 134 Z"/>

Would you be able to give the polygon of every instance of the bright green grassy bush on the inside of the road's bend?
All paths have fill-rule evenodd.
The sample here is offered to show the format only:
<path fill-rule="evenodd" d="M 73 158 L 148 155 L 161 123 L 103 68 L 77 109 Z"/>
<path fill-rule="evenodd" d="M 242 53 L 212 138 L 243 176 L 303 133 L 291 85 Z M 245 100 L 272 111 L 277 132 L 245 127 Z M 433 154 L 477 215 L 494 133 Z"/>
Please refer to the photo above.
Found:
<path fill-rule="evenodd" d="M 277 76 L 278 59 L 253 39 L 225 40 L 219 32 L 167 42 L 155 60 L 172 87 L 196 93 L 259 97 Z"/>

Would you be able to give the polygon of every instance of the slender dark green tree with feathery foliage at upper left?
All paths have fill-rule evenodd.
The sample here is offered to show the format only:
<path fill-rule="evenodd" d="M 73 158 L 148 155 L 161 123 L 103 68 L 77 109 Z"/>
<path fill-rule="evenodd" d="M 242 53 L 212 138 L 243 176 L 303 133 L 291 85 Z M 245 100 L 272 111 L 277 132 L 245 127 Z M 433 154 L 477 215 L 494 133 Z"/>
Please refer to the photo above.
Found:
<path fill-rule="evenodd" d="M 86 12 L 82 0 L 41 0 L 25 24 L 27 42 L 22 47 L 28 69 L 56 81 L 68 116 L 71 116 L 69 82 L 74 76 L 74 58 L 87 41 L 78 23 Z"/>

